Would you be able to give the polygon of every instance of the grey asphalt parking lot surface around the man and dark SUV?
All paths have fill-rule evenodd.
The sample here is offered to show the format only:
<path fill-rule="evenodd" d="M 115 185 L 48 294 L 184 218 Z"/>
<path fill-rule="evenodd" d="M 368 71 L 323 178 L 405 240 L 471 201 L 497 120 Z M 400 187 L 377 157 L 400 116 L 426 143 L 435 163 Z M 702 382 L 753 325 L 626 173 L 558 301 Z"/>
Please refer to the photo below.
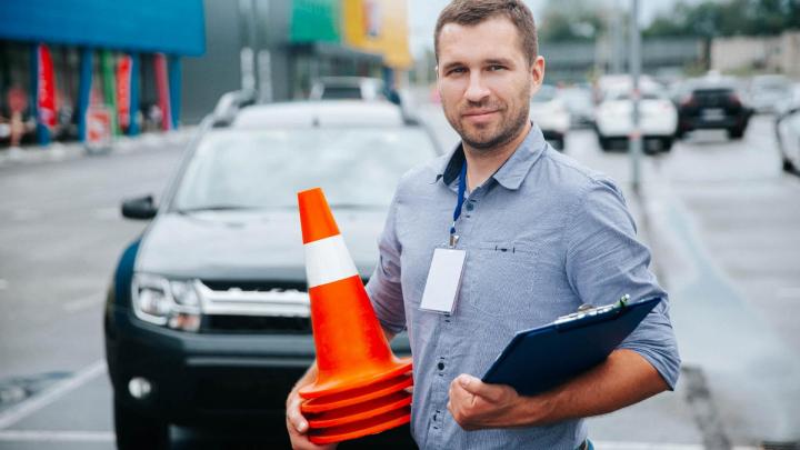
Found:
<path fill-rule="evenodd" d="M 453 141 L 436 108 L 423 116 Z M 146 226 L 119 203 L 160 193 L 184 141 L 0 167 L 0 449 L 113 448 L 103 291 Z M 566 152 L 629 186 L 627 157 L 601 152 L 591 131 L 570 132 Z M 674 393 L 590 420 L 592 439 L 687 450 L 800 440 L 800 178 L 780 171 L 770 119 L 739 142 L 692 136 L 642 173 L 642 196 L 627 194 L 670 291 L 684 371 Z M 173 430 L 178 448 L 262 439 Z"/>

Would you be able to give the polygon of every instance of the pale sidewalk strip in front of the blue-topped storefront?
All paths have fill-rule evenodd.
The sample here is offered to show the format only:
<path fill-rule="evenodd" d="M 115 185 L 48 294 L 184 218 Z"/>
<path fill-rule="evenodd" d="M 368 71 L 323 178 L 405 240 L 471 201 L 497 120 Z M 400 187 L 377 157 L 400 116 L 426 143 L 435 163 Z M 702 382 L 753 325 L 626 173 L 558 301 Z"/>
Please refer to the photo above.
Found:
<path fill-rule="evenodd" d="M 130 153 L 140 150 L 158 149 L 164 143 L 183 144 L 191 139 L 197 126 L 181 127 L 168 132 L 148 132 L 136 137 L 120 136 L 114 139 L 110 152 L 90 153 L 82 142 L 52 142 L 50 146 L 24 146 L 0 149 L 0 168 L 18 164 L 58 162 L 84 157 Z"/>

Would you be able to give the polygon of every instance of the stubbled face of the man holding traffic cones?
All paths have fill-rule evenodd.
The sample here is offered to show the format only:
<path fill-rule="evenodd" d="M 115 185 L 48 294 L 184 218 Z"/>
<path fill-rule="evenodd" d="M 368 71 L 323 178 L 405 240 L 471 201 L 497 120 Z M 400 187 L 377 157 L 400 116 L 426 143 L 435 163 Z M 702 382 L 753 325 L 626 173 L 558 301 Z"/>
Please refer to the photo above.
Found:
<path fill-rule="evenodd" d="M 444 116 L 473 149 L 491 151 L 527 126 L 544 60 L 529 64 L 520 40 L 504 17 L 476 26 L 448 23 L 439 33 L 437 77 Z"/>

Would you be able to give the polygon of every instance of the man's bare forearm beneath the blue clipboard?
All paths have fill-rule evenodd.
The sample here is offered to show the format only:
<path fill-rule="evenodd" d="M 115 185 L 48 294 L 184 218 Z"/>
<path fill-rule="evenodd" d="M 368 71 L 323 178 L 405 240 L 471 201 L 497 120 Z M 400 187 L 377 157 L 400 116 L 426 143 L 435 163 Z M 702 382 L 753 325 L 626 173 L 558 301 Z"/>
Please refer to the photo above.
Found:
<path fill-rule="evenodd" d="M 547 424 L 599 416 L 637 403 L 668 389 L 639 353 L 617 350 L 600 366 L 549 392 L 522 397 L 520 426 Z"/>

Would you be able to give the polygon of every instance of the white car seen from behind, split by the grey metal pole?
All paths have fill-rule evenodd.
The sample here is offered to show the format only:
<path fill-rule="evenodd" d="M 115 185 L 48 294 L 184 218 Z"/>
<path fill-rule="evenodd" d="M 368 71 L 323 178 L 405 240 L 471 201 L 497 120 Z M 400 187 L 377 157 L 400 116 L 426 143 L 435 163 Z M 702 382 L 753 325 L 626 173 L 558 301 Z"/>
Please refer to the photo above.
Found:
<path fill-rule="evenodd" d="M 633 129 L 633 102 L 630 90 L 612 90 L 604 93 L 594 113 L 600 148 L 610 150 L 616 142 L 626 142 Z M 670 151 L 678 128 L 678 111 L 672 101 L 660 90 L 642 92 L 639 102 L 639 126 L 644 150 Z"/>

